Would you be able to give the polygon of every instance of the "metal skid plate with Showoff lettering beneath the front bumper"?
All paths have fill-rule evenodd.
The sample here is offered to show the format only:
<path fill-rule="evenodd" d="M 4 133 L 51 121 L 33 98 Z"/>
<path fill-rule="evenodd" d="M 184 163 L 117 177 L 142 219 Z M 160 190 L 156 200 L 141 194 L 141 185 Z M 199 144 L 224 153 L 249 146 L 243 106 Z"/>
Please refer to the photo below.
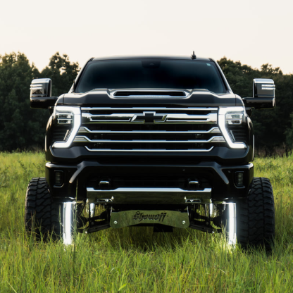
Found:
<path fill-rule="evenodd" d="M 172 227 L 189 227 L 187 213 L 180 211 L 119 211 L 112 212 L 110 225 L 113 228 L 128 227 L 139 224 L 162 224 Z"/>

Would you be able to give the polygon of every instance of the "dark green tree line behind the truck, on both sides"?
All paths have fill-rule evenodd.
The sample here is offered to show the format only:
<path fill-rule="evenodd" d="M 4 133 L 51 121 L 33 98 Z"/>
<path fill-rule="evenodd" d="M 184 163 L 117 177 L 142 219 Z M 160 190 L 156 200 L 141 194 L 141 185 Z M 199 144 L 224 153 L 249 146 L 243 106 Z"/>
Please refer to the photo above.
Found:
<path fill-rule="evenodd" d="M 264 64 L 261 69 L 242 65 L 239 61 L 221 58 L 218 61 L 235 94 L 252 96 L 254 78 L 275 81 L 276 108 L 254 110 L 255 144 L 272 154 L 273 149 L 293 147 L 293 75 L 285 75 L 280 68 Z M 49 65 L 41 72 L 25 54 L 0 56 L 0 151 L 23 151 L 44 148 L 44 134 L 49 111 L 30 108 L 30 82 L 34 78 L 52 80 L 52 96 L 68 92 L 80 70 L 66 54 L 51 56 Z"/>

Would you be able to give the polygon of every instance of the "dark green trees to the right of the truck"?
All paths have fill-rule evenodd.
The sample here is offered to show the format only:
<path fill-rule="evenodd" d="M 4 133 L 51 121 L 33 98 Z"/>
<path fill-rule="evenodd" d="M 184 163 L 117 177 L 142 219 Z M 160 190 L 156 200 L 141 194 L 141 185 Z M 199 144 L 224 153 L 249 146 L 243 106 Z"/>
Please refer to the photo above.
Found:
<path fill-rule="evenodd" d="M 239 61 L 221 58 L 218 61 L 232 91 L 242 97 L 252 96 L 254 78 L 271 78 L 275 81 L 276 107 L 274 109 L 254 110 L 251 120 L 254 122 L 256 147 L 280 146 L 286 142 L 285 130 L 291 127 L 290 113 L 293 112 L 293 75 L 283 75 L 280 68 L 269 64 L 256 70 Z"/>

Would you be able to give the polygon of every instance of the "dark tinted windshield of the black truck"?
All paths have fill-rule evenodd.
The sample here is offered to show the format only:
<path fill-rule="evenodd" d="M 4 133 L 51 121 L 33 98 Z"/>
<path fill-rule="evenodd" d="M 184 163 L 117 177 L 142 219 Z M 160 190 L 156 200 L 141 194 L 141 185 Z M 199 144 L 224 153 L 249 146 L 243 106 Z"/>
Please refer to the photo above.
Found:
<path fill-rule="evenodd" d="M 75 92 L 92 89 L 208 89 L 226 92 L 215 63 L 169 59 L 90 61 Z"/>

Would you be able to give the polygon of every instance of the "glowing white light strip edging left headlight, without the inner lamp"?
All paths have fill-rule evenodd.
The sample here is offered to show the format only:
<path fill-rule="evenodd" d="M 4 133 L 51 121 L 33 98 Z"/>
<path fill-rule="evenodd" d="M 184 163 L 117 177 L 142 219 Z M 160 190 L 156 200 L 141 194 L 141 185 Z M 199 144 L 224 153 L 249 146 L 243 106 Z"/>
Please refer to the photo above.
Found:
<path fill-rule="evenodd" d="M 66 149 L 70 146 L 70 144 L 75 139 L 75 135 L 77 135 L 78 130 L 81 125 L 81 111 L 80 107 L 72 107 L 72 106 L 56 106 L 54 109 L 54 116 L 56 115 L 56 111 L 58 112 L 68 112 L 73 113 L 73 129 L 70 132 L 70 135 L 66 142 L 54 142 L 53 146 L 56 149 Z"/>

